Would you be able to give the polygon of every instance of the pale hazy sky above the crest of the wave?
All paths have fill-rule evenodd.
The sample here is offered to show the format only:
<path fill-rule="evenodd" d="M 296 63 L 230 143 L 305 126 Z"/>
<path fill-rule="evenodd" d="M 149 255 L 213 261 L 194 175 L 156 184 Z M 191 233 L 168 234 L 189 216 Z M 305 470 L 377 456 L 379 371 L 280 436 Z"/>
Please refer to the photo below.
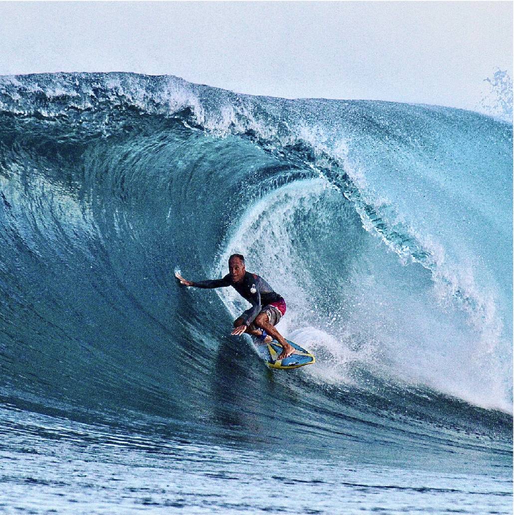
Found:
<path fill-rule="evenodd" d="M 240 93 L 473 109 L 512 2 L 0 2 L 0 75 L 168 74 Z"/>

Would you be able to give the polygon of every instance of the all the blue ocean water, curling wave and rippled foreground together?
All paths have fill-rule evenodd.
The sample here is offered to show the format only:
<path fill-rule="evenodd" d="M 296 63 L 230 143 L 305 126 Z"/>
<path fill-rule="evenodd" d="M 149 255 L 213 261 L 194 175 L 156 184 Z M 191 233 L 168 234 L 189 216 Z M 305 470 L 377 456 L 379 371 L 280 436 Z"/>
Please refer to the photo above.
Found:
<path fill-rule="evenodd" d="M 0 248 L 0 512 L 512 512 L 512 123 L 3 76 Z"/>

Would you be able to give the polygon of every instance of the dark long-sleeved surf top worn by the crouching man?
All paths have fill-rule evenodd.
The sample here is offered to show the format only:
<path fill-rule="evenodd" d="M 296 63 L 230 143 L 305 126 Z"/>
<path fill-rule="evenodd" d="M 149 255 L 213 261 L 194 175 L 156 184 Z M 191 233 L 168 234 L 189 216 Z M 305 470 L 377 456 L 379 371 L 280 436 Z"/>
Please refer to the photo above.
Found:
<path fill-rule="evenodd" d="M 227 273 L 223 279 L 210 279 L 207 281 L 193 282 L 197 288 L 223 288 L 232 286 L 243 299 L 246 299 L 252 307 L 241 316 L 245 325 L 250 325 L 260 313 L 263 306 L 272 302 L 284 300 L 262 277 L 256 273 L 246 272 L 241 281 L 235 283 Z"/>

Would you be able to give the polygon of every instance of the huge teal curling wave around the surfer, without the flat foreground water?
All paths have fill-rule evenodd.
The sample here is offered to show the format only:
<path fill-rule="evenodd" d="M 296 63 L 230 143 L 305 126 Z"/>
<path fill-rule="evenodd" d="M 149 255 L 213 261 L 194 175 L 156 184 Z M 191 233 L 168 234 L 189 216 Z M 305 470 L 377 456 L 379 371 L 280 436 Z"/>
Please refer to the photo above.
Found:
<path fill-rule="evenodd" d="M 356 456 L 381 431 L 508 442 L 511 185 L 512 125 L 473 112 L 2 77 L 4 402 Z M 227 336 L 244 302 L 177 287 L 235 251 L 316 366 L 270 383 Z"/>

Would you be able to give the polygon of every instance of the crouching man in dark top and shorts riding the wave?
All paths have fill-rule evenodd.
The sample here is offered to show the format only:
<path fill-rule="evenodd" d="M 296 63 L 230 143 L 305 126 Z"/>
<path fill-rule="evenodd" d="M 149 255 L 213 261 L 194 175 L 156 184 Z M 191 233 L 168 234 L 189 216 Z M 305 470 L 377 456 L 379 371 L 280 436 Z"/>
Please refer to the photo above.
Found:
<path fill-rule="evenodd" d="M 243 299 L 252 304 L 252 307 L 248 308 L 234 321 L 234 330 L 230 334 L 247 333 L 264 342 L 272 341 L 275 338 L 284 349 L 278 359 L 290 356 L 294 351 L 293 347 L 275 329 L 275 325 L 286 313 L 286 301 L 262 277 L 256 273 L 246 271 L 242 254 L 232 254 L 230 256 L 228 270 L 229 273 L 222 279 L 209 279 L 199 282 L 188 281 L 179 272 L 175 272 L 175 277 L 180 281 L 180 284 L 195 288 L 232 286 Z"/>

